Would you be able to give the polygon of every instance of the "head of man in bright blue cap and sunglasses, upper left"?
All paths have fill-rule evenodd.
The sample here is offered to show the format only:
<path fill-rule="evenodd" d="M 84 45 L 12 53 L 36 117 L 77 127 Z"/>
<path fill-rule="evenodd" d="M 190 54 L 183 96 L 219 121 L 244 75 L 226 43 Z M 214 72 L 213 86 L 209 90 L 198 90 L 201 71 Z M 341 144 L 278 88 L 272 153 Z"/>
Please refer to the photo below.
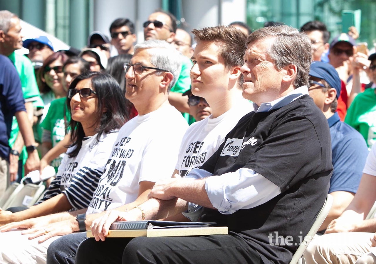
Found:
<path fill-rule="evenodd" d="M 23 47 L 29 50 L 27 57 L 32 61 L 44 62 L 48 56 L 53 54 L 52 42 L 46 36 L 38 36 L 32 39 L 26 39 Z"/>

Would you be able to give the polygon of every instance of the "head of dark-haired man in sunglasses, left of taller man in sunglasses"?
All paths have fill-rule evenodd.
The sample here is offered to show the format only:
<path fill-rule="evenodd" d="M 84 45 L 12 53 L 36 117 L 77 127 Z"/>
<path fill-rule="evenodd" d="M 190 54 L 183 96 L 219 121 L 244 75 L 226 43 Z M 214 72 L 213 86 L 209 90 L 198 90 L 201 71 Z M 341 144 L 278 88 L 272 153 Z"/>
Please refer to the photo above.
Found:
<path fill-rule="evenodd" d="M 118 54 L 133 54 L 133 43 L 137 41 L 135 25 L 128 18 L 117 18 L 110 26 L 111 44 Z"/>

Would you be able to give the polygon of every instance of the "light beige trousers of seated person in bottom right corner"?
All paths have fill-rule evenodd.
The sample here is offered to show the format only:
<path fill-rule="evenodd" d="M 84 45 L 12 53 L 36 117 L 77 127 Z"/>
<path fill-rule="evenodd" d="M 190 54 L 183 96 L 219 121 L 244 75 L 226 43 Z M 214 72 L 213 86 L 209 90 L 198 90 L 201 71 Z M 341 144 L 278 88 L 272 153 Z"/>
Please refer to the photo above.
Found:
<path fill-rule="evenodd" d="M 373 235 L 362 232 L 316 235 L 304 252 L 305 261 L 307 264 L 355 264 L 370 252 Z"/>

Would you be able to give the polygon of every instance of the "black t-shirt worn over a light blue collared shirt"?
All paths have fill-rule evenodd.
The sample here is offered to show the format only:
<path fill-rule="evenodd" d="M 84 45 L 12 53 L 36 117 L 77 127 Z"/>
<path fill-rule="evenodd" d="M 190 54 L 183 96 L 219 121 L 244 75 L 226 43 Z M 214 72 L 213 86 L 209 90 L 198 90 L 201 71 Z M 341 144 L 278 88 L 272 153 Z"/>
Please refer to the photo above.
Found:
<path fill-rule="evenodd" d="M 265 263 L 287 264 L 324 203 L 333 171 L 329 125 L 312 98 L 303 95 L 279 109 L 247 114 L 201 169 L 221 175 L 242 167 L 282 193 L 233 214 L 204 208 L 200 220 L 228 226 Z"/>

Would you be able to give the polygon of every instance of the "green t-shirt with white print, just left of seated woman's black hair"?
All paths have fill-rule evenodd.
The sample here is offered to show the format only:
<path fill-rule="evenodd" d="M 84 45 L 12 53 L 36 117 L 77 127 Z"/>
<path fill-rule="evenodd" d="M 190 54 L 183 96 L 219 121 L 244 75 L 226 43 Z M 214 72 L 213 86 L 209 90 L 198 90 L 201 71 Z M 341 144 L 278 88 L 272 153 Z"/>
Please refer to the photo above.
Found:
<path fill-rule="evenodd" d="M 70 113 L 68 112 L 66 102 L 67 98 L 65 97 L 53 100 L 51 102 L 47 115 L 41 123 L 41 127 L 43 129 L 49 130 L 51 132 L 52 147 L 56 146 L 59 141 L 64 139 L 64 136 L 68 131 Z M 55 167 L 56 172 L 63 157 L 64 154 L 61 154 L 51 162 L 51 166 Z"/>

